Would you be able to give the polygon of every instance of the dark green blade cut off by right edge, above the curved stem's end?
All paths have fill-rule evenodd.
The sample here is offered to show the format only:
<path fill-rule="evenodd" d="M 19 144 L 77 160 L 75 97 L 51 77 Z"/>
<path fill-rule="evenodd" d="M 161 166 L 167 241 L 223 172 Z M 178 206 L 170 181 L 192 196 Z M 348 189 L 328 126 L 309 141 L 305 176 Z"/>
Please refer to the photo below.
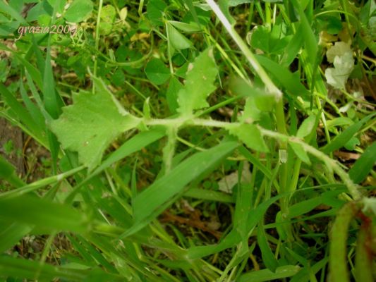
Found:
<path fill-rule="evenodd" d="M 367 147 L 359 159 L 356 160 L 353 167 L 348 171 L 348 176 L 354 183 L 362 182 L 371 171 L 376 162 L 376 142 Z"/>

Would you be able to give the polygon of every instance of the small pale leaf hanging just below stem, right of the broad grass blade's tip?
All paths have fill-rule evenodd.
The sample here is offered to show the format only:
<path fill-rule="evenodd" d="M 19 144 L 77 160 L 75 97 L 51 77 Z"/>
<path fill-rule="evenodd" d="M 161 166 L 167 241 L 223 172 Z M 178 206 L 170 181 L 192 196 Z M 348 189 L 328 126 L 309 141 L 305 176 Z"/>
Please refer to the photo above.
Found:
<path fill-rule="evenodd" d="M 229 133 L 238 137 L 250 149 L 259 152 L 269 151 L 257 125 L 244 123 L 234 128 L 229 128 Z"/>

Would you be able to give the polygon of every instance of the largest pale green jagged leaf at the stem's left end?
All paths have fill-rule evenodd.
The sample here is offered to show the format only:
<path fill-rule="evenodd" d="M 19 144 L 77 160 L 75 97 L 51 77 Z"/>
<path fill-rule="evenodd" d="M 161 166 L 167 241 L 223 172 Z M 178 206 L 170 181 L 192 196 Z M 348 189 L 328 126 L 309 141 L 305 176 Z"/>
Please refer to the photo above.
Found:
<path fill-rule="evenodd" d="M 132 116 L 107 90 L 102 80 L 93 78 L 95 94 L 81 91 L 73 94 L 73 105 L 50 124 L 64 149 L 78 152 L 80 163 L 95 168 L 104 150 L 121 133 L 138 125 Z"/>

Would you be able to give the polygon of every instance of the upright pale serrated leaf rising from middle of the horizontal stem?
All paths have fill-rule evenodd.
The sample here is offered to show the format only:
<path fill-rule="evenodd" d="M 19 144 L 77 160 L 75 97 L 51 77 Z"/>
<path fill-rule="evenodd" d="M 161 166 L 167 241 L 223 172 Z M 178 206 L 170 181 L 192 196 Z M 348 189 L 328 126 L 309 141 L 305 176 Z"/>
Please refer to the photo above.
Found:
<path fill-rule="evenodd" d="M 213 51 L 206 49 L 188 65 L 186 82 L 178 92 L 178 112 L 189 115 L 195 109 L 209 106 L 206 99 L 216 89 L 213 82 L 217 73 Z"/>

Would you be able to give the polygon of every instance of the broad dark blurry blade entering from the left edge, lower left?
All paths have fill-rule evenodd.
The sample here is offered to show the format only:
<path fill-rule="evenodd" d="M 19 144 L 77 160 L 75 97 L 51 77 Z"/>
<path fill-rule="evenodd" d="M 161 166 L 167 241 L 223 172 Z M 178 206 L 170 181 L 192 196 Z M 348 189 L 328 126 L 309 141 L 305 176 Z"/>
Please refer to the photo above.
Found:
<path fill-rule="evenodd" d="M 0 198 L 0 219 L 30 224 L 44 231 L 85 233 L 90 221 L 84 213 L 69 206 L 32 196 Z"/>

